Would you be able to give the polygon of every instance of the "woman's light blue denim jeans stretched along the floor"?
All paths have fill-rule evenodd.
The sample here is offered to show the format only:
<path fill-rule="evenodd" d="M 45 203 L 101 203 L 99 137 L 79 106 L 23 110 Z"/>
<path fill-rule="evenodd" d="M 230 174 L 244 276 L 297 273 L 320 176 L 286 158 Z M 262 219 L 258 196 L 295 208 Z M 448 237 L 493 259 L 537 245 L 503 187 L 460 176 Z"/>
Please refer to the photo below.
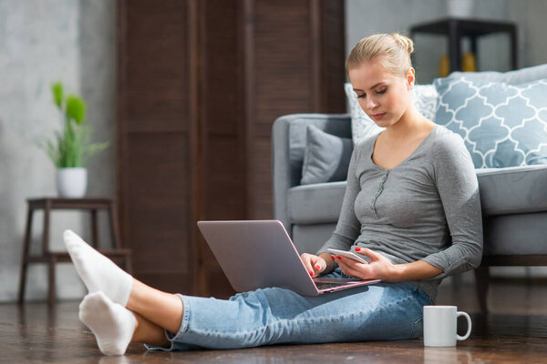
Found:
<path fill-rule="evenodd" d="M 339 268 L 331 277 L 346 277 Z M 423 306 L 432 301 L 405 282 L 377 283 L 316 297 L 283 288 L 238 293 L 228 300 L 179 295 L 181 329 L 166 331 L 170 348 L 237 349 L 281 343 L 312 344 L 416 339 Z"/>

